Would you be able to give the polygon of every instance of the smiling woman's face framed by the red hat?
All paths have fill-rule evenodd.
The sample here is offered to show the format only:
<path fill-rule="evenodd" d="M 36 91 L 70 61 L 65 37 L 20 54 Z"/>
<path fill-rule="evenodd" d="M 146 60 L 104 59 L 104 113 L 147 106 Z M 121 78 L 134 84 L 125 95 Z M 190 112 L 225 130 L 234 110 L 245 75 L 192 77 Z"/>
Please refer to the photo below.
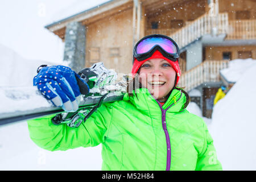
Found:
<path fill-rule="evenodd" d="M 150 59 L 142 64 L 139 72 L 139 82 L 151 94 L 161 100 L 174 87 L 176 72 L 171 64 L 163 59 Z"/>

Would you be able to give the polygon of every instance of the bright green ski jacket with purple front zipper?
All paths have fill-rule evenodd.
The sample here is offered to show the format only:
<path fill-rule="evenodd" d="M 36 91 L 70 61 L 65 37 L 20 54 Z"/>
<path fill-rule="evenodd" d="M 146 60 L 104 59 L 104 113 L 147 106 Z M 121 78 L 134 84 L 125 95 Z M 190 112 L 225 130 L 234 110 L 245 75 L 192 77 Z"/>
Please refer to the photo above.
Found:
<path fill-rule="evenodd" d="M 147 89 L 103 104 L 78 128 L 28 121 L 31 139 L 49 151 L 102 143 L 102 170 L 222 170 L 205 122 L 185 110 L 174 89 L 163 107 Z"/>

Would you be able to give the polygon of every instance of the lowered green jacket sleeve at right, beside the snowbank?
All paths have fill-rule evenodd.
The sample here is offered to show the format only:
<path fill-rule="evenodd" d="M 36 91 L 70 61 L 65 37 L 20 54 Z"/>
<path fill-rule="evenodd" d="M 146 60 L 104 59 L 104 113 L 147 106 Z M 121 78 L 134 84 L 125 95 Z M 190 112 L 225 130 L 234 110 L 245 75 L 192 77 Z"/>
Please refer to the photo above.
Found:
<path fill-rule="evenodd" d="M 204 123 L 204 146 L 197 158 L 196 171 L 220 171 L 221 163 L 217 159 L 216 150 L 213 146 L 213 139 Z"/>

